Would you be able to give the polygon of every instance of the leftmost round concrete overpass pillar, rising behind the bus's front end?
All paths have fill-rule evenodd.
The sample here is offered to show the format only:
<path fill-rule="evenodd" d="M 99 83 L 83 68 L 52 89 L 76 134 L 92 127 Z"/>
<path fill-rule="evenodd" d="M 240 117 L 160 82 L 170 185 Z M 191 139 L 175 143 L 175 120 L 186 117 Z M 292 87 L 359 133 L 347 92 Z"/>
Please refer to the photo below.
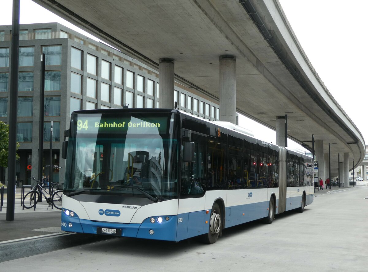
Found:
<path fill-rule="evenodd" d="M 159 107 L 174 108 L 174 60 L 159 59 Z"/>

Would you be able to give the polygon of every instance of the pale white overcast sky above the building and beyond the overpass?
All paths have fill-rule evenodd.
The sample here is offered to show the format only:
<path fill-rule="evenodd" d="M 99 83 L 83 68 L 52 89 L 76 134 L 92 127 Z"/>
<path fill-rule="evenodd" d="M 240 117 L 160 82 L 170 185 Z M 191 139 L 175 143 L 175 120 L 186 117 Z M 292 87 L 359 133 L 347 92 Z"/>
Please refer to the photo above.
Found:
<path fill-rule="evenodd" d="M 298 41 L 319 77 L 347 115 L 368 140 L 365 124 L 368 99 L 365 18 L 368 1 L 279 0 Z M 1 0 L 0 25 L 12 23 L 12 1 Z M 60 22 L 86 36 L 82 29 L 33 3 L 21 0 L 20 23 Z M 96 39 L 96 38 L 95 38 Z M 240 118 L 240 125 L 251 127 L 256 137 L 276 143 L 276 132 Z M 367 142 L 368 143 L 368 142 Z M 291 144 L 289 144 L 290 146 Z"/>

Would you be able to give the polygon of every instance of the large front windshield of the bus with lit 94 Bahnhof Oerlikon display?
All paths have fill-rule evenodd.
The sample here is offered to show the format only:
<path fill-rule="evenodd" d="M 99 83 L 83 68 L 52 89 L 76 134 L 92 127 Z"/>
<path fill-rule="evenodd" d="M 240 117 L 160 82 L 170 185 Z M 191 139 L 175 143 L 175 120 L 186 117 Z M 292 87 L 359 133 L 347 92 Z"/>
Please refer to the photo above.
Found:
<path fill-rule="evenodd" d="M 72 114 L 66 195 L 178 195 L 178 121 L 171 113 Z"/>

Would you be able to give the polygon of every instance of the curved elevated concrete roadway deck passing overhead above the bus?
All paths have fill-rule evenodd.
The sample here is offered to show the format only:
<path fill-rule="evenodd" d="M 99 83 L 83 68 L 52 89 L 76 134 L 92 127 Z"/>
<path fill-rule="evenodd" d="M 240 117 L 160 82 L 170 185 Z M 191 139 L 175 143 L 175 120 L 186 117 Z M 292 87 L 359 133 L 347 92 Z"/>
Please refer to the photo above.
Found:
<path fill-rule="evenodd" d="M 289 137 L 312 150 L 331 146 L 331 175 L 365 143 L 318 77 L 277 0 L 34 0 L 124 53 L 158 69 L 175 61 L 175 80 L 219 101 L 219 57 L 236 56 L 236 108 L 269 128 L 288 117 Z M 323 27 L 323 26 L 321 26 Z M 251 129 L 251 128 L 250 128 Z"/>

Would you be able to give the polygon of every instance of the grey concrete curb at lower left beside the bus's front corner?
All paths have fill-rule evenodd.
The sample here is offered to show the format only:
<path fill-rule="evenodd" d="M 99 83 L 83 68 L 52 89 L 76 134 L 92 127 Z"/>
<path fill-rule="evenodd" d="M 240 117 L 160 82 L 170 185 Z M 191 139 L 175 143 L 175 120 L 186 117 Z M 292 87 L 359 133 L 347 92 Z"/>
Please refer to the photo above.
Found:
<path fill-rule="evenodd" d="M 0 262 L 29 257 L 76 245 L 111 239 L 106 235 L 58 233 L 12 240 L 0 244 Z M 116 237 L 114 237 L 116 238 Z"/>

